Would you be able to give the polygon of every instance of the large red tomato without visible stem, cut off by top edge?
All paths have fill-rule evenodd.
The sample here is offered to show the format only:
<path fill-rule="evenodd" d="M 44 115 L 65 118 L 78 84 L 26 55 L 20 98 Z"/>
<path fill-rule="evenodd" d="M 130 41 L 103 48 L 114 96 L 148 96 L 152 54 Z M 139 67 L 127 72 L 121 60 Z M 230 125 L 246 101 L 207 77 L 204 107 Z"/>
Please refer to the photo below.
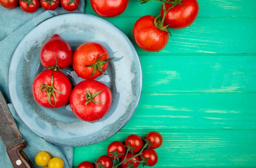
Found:
<path fill-rule="evenodd" d="M 100 16 L 115 17 L 123 13 L 129 0 L 90 0 L 92 9 Z"/>

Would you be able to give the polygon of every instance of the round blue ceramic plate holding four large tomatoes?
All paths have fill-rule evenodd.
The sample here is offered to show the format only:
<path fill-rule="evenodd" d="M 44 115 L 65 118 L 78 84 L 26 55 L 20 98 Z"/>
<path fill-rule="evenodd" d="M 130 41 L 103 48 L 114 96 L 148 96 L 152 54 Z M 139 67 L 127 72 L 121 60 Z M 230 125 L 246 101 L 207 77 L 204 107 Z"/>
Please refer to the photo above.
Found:
<path fill-rule="evenodd" d="M 112 91 L 110 110 L 97 122 L 76 118 L 69 105 L 47 109 L 38 105 L 32 95 L 34 78 L 45 68 L 40 64 L 41 46 L 58 34 L 75 50 L 94 41 L 103 45 L 110 57 L 106 73 L 97 81 Z M 72 85 L 83 81 L 72 67 L 63 70 Z M 20 41 L 9 67 L 9 92 L 20 119 L 38 136 L 58 145 L 85 146 L 106 140 L 128 122 L 139 102 L 142 76 L 135 48 L 126 35 L 113 24 L 84 13 L 68 13 L 41 22 Z"/>

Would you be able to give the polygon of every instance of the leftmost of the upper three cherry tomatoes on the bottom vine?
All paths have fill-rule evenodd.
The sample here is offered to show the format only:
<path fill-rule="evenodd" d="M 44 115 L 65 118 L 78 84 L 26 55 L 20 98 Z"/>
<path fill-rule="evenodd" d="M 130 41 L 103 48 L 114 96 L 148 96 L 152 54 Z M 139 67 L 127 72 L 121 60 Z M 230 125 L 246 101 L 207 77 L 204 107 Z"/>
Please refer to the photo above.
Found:
<path fill-rule="evenodd" d="M 109 146 L 108 146 L 108 156 L 113 155 L 110 152 L 115 152 L 115 150 L 117 150 L 117 153 L 120 153 L 120 155 L 118 155 L 118 158 L 120 159 L 121 157 L 124 156 L 124 154 L 126 153 L 126 149 L 124 147 L 124 144 L 120 141 L 114 141 L 112 142 Z M 110 156 L 111 159 L 115 159 L 114 155 Z"/>

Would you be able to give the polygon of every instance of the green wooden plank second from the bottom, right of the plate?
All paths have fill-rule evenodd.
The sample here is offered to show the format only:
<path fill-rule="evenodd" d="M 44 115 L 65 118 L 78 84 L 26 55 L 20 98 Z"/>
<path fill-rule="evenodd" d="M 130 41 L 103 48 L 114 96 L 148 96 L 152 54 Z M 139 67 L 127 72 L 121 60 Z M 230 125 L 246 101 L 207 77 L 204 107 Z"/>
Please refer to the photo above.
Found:
<path fill-rule="evenodd" d="M 142 94 L 125 129 L 256 129 L 256 94 Z"/>

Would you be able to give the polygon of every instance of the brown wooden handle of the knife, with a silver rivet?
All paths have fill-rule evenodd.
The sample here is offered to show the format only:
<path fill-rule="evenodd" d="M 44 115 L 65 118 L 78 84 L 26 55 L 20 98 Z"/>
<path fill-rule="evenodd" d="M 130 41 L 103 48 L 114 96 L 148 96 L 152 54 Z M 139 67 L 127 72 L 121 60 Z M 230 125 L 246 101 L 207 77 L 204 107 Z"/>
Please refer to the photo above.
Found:
<path fill-rule="evenodd" d="M 27 155 L 22 151 L 26 146 L 26 142 L 23 142 L 7 149 L 7 154 L 14 168 L 34 168 Z"/>

